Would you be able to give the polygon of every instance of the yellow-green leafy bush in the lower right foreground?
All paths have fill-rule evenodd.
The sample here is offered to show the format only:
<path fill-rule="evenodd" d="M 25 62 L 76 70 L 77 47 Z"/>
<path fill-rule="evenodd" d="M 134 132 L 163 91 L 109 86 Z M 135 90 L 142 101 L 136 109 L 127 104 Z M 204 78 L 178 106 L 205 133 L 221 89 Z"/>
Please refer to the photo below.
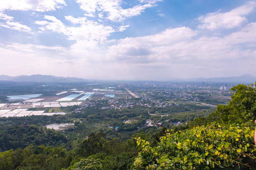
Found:
<path fill-rule="evenodd" d="M 256 147 L 252 123 L 212 123 L 180 132 L 167 130 L 151 147 L 138 138 L 143 149 L 134 161 L 135 170 L 255 170 Z"/>

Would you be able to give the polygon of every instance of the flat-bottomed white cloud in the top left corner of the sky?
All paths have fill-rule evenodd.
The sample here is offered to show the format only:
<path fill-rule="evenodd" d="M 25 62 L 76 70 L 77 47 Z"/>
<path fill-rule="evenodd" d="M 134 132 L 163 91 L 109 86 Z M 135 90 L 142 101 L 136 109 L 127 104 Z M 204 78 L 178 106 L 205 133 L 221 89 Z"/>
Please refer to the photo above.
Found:
<path fill-rule="evenodd" d="M 52 11 L 62 8 L 64 0 L 0 0 L 0 11 L 3 10 L 32 10 L 38 12 Z"/>

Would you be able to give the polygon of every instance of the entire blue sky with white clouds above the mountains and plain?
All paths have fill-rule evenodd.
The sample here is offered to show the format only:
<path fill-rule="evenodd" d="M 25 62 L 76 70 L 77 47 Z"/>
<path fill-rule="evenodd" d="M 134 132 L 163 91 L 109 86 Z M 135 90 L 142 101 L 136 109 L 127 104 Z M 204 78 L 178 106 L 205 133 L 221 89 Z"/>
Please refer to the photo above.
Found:
<path fill-rule="evenodd" d="M 256 0 L 0 0 L 0 75 L 256 76 Z"/>

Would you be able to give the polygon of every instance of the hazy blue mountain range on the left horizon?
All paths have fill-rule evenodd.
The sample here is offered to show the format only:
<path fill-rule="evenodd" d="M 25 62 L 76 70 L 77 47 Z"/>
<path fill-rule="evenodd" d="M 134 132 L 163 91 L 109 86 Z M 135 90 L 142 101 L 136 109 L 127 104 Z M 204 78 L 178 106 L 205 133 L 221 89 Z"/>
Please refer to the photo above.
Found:
<path fill-rule="evenodd" d="M 1 75 L 0 80 L 18 81 L 18 82 L 56 82 L 56 83 L 72 83 L 72 82 L 88 82 L 89 80 L 75 77 L 61 77 L 50 75 L 31 75 L 31 76 L 6 76 Z"/>

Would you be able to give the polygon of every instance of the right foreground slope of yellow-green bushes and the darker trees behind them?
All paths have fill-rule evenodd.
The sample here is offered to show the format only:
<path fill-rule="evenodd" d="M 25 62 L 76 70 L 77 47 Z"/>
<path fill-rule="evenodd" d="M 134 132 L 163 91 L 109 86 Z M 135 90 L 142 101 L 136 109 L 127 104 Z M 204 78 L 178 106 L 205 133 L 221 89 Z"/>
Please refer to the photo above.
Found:
<path fill-rule="evenodd" d="M 166 130 L 157 145 L 138 137 L 142 147 L 133 169 L 255 170 L 256 89 L 237 85 L 227 105 L 218 105 L 207 119 L 195 119 L 190 128 Z"/>

